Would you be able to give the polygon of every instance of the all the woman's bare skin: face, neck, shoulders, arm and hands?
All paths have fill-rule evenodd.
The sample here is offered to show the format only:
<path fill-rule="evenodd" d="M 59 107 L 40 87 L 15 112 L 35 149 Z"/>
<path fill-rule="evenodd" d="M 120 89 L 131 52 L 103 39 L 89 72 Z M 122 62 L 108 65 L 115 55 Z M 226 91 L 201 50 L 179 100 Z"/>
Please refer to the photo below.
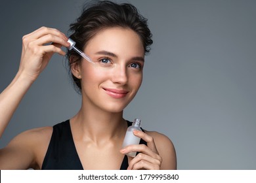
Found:
<path fill-rule="evenodd" d="M 18 73 L 0 95 L 1 134 L 51 56 L 65 54 L 60 47 L 69 46 L 67 40 L 60 31 L 47 27 L 24 36 Z M 55 43 L 45 45 L 48 42 Z M 83 169 L 119 169 L 125 154 L 132 151 L 140 153 L 129 158 L 128 169 L 176 169 L 172 142 L 155 131 L 133 132 L 147 146 L 121 148 L 127 129 L 123 109 L 135 97 L 142 82 L 144 48 L 137 33 L 121 27 L 103 29 L 83 51 L 95 64 L 83 59 L 81 64 L 72 65 L 72 73 L 81 79 L 82 103 L 70 119 Z M 52 132 L 53 127 L 41 127 L 14 137 L 0 150 L 0 169 L 41 169 Z"/>

